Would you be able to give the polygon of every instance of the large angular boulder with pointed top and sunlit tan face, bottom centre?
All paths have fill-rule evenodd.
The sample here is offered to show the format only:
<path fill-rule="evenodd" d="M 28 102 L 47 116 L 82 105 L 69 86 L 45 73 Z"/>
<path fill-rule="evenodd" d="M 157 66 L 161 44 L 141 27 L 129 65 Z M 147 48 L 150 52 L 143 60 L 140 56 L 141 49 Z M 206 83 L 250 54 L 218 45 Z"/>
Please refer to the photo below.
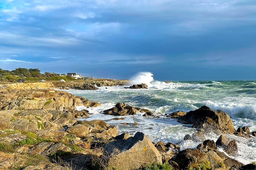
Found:
<path fill-rule="evenodd" d="M 108 167 L 132 170 L 149 163 L 162 163 L 162 158 L 150 139 L 137 132 L 134 137 L 106 144 L 102 161 Z"/>

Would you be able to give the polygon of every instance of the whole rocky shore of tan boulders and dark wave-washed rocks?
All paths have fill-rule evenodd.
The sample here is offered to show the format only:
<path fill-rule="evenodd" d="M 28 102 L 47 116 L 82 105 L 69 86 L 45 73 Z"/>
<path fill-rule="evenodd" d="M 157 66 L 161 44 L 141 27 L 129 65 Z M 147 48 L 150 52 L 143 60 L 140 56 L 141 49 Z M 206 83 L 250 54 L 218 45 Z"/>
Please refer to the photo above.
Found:
<path fill-rule="evenodd" d="M 101 86 L 108 82 L 105 83 Z M 133 137 L 128 133 L 118 135 L 116 126 L 102 120 L 77 120 L 90 116 L 88 110 L 76 110 L 77 106 L 98 107 L 100 103 L 51 89 L 56 87 L 56 84 L 33 83 L 0 87 L 0 169 L 256 169 L 253 163 L 244 165 L 231 158 L 238 153 L 237 141 L 225 135 L 249 138 L 255 137 L 256 132 L 250 132 L 246 126 L 236 130 L 229 115 L 223 111 L 203 106 L 188 113 L 177 111 L 166 115 L 180 123 L 193 124 L 197 129 L 184 140 L 201 144 L 195 149 L 180 151 L 179 144 L 152 143 L 141 132 Z M 102 111 L 116 116 L 116 119 L 138 112 L 144 116 L 157 115 L 124 103 Z M 210 131 L 219 135 L 216 142 L 204 137 Z M 219 151 L 217 146 L 228 155 Z"/>

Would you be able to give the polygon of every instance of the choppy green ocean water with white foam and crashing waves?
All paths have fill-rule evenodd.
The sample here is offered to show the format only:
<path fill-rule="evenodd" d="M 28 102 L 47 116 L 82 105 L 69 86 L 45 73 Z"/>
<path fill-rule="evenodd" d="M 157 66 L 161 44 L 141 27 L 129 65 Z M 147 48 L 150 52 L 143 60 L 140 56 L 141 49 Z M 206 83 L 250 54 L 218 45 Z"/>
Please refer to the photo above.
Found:
<path fill-rule="evenodd" d="M 89 100 L 96 100 L 102 105 L 95 108 L 86 108 L 92 115 L 85 120 L 101 119 L 108 124 L 116 125 L 118 133 L 134 135 L 137 131 L 145 133 L 153 142 L 164 141 L 179 143 L 181 149 L 196 148 L 199 143 L 191 140 L 183 142 L 186 134 L 192 135 L 196 129 L 192 125 L 177 122 L 165 114 L 174 111 L 195 110 L 203 105 L 214 110 L 223 110 L 230 115 L 235 129 L 248 126 L 256 131 L 256 81 L 173 81 L 165 83 L 153 79 L 151 73 L 141 73 L 133 78 L 132 84 L 146 83 L 148 89 L 124 89 L 121 86 L 99 87 L 99 90 L 65 90 Z M 122 116 L 125 120 L 111 120 L 116 116 L 103 115 L 100 111 L 114 107 L 116 103 L 124 102 L 130 106 L 146 108 L 159 117 L 144 117 L 137 115 Z M 77 109 L 83 109 L 78 107 Z M 119 116 L 121 117 L 121 116 Z M 130 123 L 123 125 L 124 122 Z M 139 126 L 134 126 L 138 122 Z M 214 133 L 206 135 L 207 139 L 216 141 L 219 136 Z M 256 161 L 256 137 L 244 138 L 227 135 L 236 140 L 239 153 L 234 159 L 244 164 Z M 223 151 L 219 148 L 220 151 Z M 223 151 L 224 152 L 224 151 Z"/>

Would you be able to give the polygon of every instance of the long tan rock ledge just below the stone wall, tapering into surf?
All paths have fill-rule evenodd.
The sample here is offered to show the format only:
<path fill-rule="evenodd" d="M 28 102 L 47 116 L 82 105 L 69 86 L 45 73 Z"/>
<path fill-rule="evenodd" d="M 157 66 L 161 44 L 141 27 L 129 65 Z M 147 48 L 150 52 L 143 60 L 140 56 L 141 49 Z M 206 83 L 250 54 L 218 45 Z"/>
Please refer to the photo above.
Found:
<path fill-rule="evenodd" d="M 50 89 L 0 91 L 0 110 L 10 109 L 44 109 L 61 110 L 66 107 L 97 107 L 100 103 L 83 97 Z"/>

